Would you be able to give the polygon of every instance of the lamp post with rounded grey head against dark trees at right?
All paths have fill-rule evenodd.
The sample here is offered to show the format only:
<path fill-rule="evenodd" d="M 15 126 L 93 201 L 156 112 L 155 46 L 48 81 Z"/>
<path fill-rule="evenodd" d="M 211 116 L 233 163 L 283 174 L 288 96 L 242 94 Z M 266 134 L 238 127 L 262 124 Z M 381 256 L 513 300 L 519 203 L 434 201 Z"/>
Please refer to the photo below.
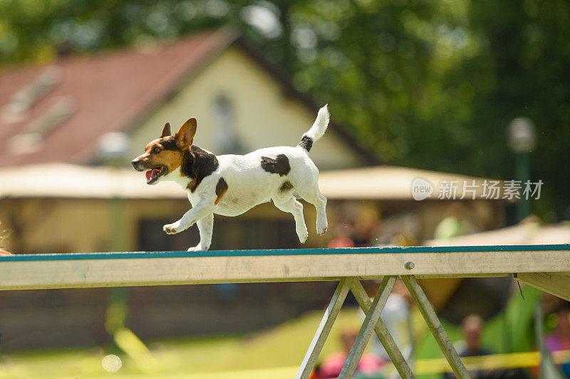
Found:
<path fill-rule="evenodd" d="M 507 129 L 508 144 L 516 155 L 515 175 L 517 181 L 524 183 L 530 178 L 529 169 L 529 152 L 537 145 L 537 136 L 534 131 L 534 124 L 530 119 L 525 117 L 517 117 L 513 119 Z M 517 220 L 522 219 L 530 214 L 530 199 L 521 196 L 517 202 Z"/>

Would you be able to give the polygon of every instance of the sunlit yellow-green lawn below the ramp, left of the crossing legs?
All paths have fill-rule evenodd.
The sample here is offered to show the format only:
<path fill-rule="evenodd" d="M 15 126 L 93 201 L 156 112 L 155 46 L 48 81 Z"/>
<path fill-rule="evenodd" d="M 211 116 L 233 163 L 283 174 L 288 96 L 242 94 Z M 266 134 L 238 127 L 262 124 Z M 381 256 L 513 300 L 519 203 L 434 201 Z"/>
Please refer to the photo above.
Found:
<path fill-rule="evenodd" d="M 322 316 L 314 311 L 273 329 L 243 336 L 177 338 L 147 343 L 152 362 L 140 364 L 120 353 L 123 368 L 108 373 L 103 348 L 26 351 L 0 356 L 1 379 L 75 378 L 291 378 L 301 363 Z M 341 331 L 358 329 L 357 309 L 343 309 L 321 356 L 341 349 Z"/>

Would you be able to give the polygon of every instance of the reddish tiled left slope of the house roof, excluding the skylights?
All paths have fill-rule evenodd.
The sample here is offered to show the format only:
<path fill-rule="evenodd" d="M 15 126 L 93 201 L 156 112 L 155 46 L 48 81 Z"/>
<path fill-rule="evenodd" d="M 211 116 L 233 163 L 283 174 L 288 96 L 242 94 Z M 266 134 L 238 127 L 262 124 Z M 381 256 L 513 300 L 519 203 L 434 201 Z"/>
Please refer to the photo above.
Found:
<path fill-rule="evenodd" d="M 9 117 L 6 105 L 46 71 L 46 66 L 0 71 L 0 166 L 45 162 L 92 163 L 107 132 L 128 131 L 145 111 L 166 97 L 178 82 L 207 63 L 234 39 L 227 31 L 194 34 L 153 50 L 116 50 L 60 60 L 53 64 L 61 80 L 21 117 Z M 42 137 L 40 149 L 14 154 L 12 138 L 26 132 L 58 99 L 73 102 L 75 112 Z M 19 119 L 18 119 L 19 118 Z"/>

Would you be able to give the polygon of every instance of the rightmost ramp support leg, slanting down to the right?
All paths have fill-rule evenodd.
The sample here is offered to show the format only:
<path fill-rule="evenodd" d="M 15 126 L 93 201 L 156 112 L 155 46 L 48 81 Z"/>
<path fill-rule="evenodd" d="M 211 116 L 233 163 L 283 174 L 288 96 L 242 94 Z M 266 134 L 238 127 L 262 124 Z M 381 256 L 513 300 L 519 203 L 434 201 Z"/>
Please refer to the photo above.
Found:
<path fill-rule="evenodd" d="M 405 283 L 405 287 L 408 287 L 408 291 L 410 291 L 415 305 L 420 309 L 420 313 L 422 314 L 425 323 L 429 326 L 435 341 L 437 341 L 437 345 L 440 346 L 443 356 L 447 359 L 447 362 L 450 364 L 455 376 L 458 379 L 470 379 L 470 375 L 467 373 L 467 368 L 465 368 L 465 365 L 461 361 L 461 358 L 459 358 L 457 351 L 455 351 L 455 347 L 453 347 L 450 338 L 447 336 L 447 333 L 445 333 L 445 329 L 443 329 L 440 319 L 437 318 L 437 314 L 435 314 L 430 301 L 425 297 L 425 293 L 423 292 L 422 287 L 420 287 L 418 279 L 413 275 L 402 275 L 402 280 Z"/>

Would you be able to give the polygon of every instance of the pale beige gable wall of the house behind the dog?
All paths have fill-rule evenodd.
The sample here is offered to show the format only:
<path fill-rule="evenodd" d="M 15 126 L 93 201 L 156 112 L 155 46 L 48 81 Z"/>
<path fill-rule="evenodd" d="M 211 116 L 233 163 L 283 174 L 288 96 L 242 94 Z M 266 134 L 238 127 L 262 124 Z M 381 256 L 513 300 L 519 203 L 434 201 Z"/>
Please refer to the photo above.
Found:
<path fill-rule="evenodd" d="M 165 122 L 177 129 L 192 116 L 198 120 L 195 144 L 217 153 L 213 103 L 220 95 L 232 103 L 237 136 L 246 151 L 295 146 L 316 117 L 298 100 L 286 97 L 279 83 L 242 50 L 229 48 L 142 123 L 133 134 L 130 156 L 141 154 L 145 144 L 159 136 Z M 334 110 L 331 117 L 334 119 Z M 363 163 L 332 130 L 314 145 L 311 157 L 319 169 L 343 169 Z"/>

